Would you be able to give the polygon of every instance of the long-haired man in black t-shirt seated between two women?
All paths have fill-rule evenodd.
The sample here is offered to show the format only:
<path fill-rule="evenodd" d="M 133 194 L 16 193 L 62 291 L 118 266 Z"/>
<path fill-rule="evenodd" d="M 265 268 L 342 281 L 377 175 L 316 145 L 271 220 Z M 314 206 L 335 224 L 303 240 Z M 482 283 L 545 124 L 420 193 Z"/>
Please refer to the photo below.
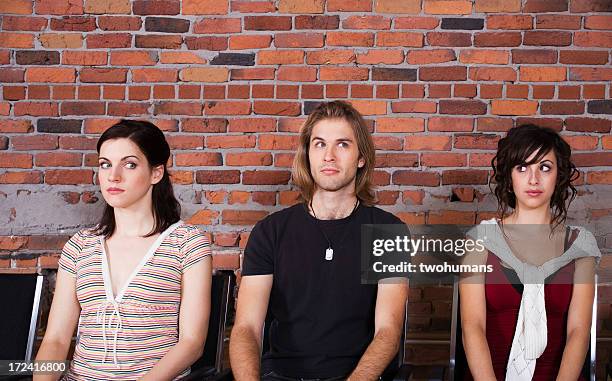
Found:
<path fill-rule="evenodd" d="M 257 223 L 245 249 L 230 339 L 236 380 L 375 380 L 395 357 L 407 282 L 360 278 L 361 224 L 401 224 L 371 206 L 374 160 L 349 104 L 322 103 L 308 117 L 293 168 L 304 203 Z"/>

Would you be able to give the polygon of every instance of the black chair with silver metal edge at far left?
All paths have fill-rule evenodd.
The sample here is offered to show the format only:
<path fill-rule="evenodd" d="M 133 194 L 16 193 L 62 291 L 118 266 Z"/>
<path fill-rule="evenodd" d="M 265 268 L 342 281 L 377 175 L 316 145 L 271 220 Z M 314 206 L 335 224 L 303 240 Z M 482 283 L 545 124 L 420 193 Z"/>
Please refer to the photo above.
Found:
<path fill-rule="evenodd" d="M 0 314 L 0 360 L 32 360 L 40 309 L 43 276 L 0 273 L 5 306 Z"/>

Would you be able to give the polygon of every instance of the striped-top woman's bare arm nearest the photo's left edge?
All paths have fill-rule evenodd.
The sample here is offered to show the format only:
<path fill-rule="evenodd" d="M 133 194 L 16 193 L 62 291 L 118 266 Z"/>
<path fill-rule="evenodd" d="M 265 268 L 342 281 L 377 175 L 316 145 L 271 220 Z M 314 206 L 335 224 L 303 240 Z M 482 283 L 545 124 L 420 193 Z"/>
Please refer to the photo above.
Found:
<path fill-rule="evenodd" d="M 70 349 L 72 334 L 79 320 L 81 307 L 76 296 L 76 278 L 63 269 L 57 271 L 55 295 L 49 312 L 47 330 L 43 338 L 37 361 L 64 361 Z M 35 381 L 57 380 L 60 374 L 34 375 Z"/>

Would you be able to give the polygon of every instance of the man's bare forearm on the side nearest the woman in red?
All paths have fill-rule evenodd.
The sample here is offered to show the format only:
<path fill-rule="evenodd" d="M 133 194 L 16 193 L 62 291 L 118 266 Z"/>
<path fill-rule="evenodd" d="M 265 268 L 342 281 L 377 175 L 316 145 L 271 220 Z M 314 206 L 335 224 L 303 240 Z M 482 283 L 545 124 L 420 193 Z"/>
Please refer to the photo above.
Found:
<path fill-rule="evenodd" d="M 374 339 L 349 376 L 350 381 L 376 380 L 397 354 L 404 329 L 408 281 L 378 284 Z"/>

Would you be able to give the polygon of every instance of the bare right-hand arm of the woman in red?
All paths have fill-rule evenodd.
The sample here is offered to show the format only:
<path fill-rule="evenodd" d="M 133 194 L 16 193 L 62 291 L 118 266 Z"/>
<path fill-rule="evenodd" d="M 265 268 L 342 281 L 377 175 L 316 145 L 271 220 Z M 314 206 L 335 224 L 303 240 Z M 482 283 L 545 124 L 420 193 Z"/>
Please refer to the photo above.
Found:
<path fill-rule="evenodd" d="M 591 329 L 595 285 L 593 275 L 595 259 L 593 257 L 576 260 L 574 271 L 574 286 L 572 300 L 567 316 L 567 339 L 561 359 L 561 367 L 557 380 L 572 380 L 579 378 L 587 350 Z M 591 275 L 590 275 L 591 274 Z M 586 282 L 590 277 L 591 282 Z"/>

